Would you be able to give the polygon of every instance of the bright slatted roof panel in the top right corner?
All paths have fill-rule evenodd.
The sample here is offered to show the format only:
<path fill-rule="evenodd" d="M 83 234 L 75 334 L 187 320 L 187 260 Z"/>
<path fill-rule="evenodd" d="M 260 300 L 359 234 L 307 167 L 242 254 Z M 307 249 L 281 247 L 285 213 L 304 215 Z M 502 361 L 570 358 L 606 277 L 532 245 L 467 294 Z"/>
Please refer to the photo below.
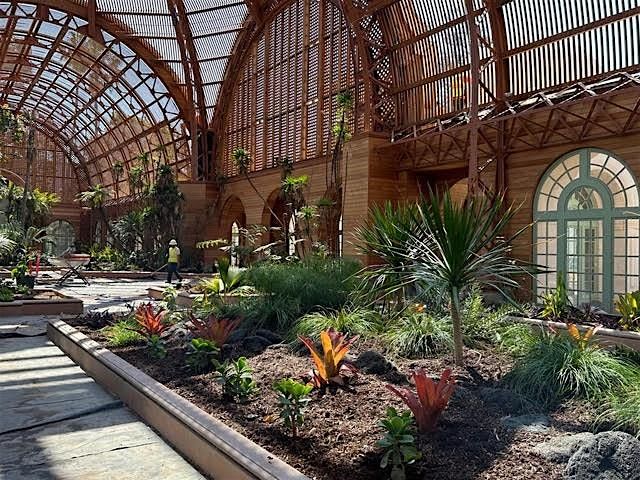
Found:
<path fill-rule="evenodd" d="M 640 64 L 639 0 L 513 0 L 503 9 L 516 96 Z"/>

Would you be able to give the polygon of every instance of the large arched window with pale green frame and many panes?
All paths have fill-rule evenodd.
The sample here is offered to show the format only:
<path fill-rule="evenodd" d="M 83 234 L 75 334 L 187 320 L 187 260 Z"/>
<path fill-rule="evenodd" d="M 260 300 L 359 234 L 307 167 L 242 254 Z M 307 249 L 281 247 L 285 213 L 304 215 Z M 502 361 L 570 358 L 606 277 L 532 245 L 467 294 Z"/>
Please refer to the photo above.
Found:
<path fill-rule="evenodd" d="M 622 160 L 600 149 L 557 160 L 538 185 L 534 202 L 534 260 L 549 269 L 537 291 L 565 276 L 572 303 L 612 310 L 613 299 L 638 290 L 640 196 Z"/>

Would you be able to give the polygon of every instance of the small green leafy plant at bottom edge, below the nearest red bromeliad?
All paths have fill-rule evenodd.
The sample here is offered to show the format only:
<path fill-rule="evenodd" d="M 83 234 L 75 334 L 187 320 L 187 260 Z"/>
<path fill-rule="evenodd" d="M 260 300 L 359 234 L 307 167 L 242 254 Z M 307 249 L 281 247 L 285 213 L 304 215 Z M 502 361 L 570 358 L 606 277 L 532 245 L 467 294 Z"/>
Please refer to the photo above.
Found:
<path fill-rule="evenodd" d="M 384 452 L 380 468 L 391 466 L 391 479 L 404 480 L 405 465 L 411 465 L 422 457 L 416 448 L 411 414 L 403 412 L 399 415 L 395 408 L 388 408 L 387 416 L 378 422 L 378 426 L 385 431 L 384 437 L 377 442 Z"/>

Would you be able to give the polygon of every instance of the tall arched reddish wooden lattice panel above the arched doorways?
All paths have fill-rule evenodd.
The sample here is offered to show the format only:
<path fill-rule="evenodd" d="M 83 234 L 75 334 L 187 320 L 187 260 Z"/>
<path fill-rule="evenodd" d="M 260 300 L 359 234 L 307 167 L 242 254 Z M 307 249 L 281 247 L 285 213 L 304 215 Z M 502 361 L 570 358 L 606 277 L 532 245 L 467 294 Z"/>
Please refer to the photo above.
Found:
<path fill-rule="evenodd" d="M 336 95 L 362 86 L 352 58 L 351 32 L 328 1 L 297 0 L 279 12 L 254 44 L 239 76 L 226 125 L 223 171 L 237 174 L 235 148 L 251 153 L 252 170 L 326 155 Z M 353 116 L 352 129 L 356 128 Z"/>

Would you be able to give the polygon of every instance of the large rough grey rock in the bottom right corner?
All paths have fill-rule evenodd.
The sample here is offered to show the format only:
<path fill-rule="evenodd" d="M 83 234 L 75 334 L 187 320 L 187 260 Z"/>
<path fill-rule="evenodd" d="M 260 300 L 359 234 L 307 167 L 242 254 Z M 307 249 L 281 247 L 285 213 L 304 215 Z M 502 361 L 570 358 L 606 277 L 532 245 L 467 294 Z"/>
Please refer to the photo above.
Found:
<path fill-rule="evenodd" d="M 567 480 L 640 480 L 640 440 L 603 432 L 585 440 L 564 470 Z"/>

